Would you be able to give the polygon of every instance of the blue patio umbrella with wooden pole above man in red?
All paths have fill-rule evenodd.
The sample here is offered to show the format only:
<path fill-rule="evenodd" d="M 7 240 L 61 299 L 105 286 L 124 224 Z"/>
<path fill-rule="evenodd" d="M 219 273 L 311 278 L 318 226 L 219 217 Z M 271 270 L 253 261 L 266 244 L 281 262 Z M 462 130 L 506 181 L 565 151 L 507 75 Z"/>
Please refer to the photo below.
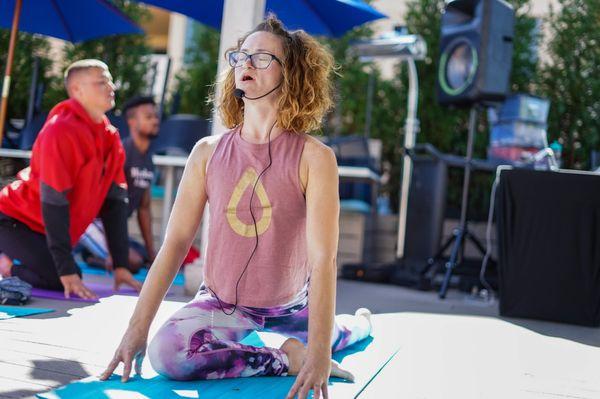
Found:
<path fill-rule="evenodd" d="M 125 14 L 106 0 L 2 0 L 0 26 L 11 28 L 0 105 L 0 143 L 6 120 L 14 48 L 19 30 L 71 42 L 118 33 L 142 33 Z"/>

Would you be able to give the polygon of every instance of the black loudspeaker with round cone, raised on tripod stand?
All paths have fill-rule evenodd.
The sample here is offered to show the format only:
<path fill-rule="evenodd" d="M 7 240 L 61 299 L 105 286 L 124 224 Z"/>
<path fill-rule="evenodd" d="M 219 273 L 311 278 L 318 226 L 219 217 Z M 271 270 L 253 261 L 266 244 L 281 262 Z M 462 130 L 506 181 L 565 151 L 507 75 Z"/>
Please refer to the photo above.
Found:
<path fill-rule="evenodd" d="M 506 96 L 515 13 L 503 0 L 452 0 L 442 14 L 437 94 L 470 106 Z"/>

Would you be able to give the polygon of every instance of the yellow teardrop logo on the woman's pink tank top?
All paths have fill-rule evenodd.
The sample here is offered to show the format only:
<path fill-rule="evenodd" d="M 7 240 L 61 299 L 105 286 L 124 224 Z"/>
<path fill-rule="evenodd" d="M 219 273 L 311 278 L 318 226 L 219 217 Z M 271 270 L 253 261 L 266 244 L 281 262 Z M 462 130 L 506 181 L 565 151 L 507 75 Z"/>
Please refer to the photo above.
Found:
<path fill-rule="evenodd" d="M 249 167 L 246 169 L 238 183 L 235 185 L 233 193 L 231 194 L 231 198 L 229 199 L 229 204 L 227 205 L 227 222 L 233 231 L 242 237 L 256 236 L 254 223 L 246 224 L 237 216 L 237 208 L 240 204 L 242 196 L 244 195 L 244 192 L 246 190 L 252 190 L 256 179 L 258 179 L 258 173 L 256 173 L 254 168 Z M 261 235 L 267 231 L 269 225 L 271 224 L 271 202 L 269 201 L 265 187 L 260 181 L 256 184 L 256 192 L 254 195 L 258 197 L 258 200 L 262 206 L 262 216 L 256 221 L 258 235 Z"/>

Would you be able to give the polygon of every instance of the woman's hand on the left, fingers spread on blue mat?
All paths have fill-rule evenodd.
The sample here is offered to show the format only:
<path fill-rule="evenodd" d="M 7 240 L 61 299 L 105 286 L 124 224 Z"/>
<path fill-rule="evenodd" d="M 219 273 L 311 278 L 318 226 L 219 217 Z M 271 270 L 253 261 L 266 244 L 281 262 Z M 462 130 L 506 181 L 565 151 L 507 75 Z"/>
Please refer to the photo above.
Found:
<path fill-rule="evenodd" d="M 146 355 L 147 340 L 147 332 L 134 327 L 129 327 L 121 339 L 121 344 L 117 348 L 112 361 L 100 375 L 100 380 L 106 381 L 110 378 L 119 363 L 123 363 L 123 376 L 121 377 L 121 382 L 127 382 L 127 380 L 129 380 L 132 363 L 134 363 L 135 372 L 138 375 L 142 375 L 142 362 Z"/>

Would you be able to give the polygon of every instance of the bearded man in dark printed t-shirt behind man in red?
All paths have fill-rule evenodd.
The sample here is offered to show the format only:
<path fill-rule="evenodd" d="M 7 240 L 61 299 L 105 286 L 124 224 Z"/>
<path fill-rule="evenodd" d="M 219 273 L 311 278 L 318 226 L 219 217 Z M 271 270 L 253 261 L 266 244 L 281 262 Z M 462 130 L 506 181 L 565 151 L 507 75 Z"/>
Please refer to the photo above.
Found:
<path fill-rule="evenodd" d="M 123 105 L 123 115 L 129 126 L 129 137 L 123 140 L 125 149 L 125 177 L 129 198 L 128 217 L 137 211 L 144 245 L 129 239 L 129 265 L 137 272 L 144 264 L 151 264 L 156 253 L 152 238 L 150 186 L 154 179 L 154 164 L 149 151 L 152 140 L 158 137 L 159 118 L 152 97 L 135 97 Z M 102 222 L 94 221 L 81 237 L 80 248 L 84 260 L 110 269 L 112 259 L 107 251 Z"/>

